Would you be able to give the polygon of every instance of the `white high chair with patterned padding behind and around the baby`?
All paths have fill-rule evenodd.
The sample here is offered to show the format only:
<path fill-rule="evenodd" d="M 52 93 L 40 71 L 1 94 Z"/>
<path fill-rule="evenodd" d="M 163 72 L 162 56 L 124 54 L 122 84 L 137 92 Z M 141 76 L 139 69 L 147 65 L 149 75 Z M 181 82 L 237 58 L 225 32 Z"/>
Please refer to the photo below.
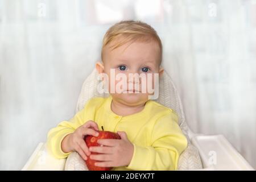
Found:
<path fill-rule="evenodd" d="M 76 112 L 81 110 L 92 97 L 108 97 L 109 94 L 97 92 L 98 79 L 96 69 L 82 85 Z M 188 147 L 180 155 L 178 170 L 254 170 L 235 150 L 223 135 L 203 135 L 193 133 L 183 113 L 179 95 L 166 72 L 159 78 L 160 104 L 170 107 L 179 115 L 179 125 L 188 139 Z M 45 143 L 39 143 L 22 170 L 87 170 L 84 160 L 73 152 L 67 159 L 55 159 L 47 151 Z"/>

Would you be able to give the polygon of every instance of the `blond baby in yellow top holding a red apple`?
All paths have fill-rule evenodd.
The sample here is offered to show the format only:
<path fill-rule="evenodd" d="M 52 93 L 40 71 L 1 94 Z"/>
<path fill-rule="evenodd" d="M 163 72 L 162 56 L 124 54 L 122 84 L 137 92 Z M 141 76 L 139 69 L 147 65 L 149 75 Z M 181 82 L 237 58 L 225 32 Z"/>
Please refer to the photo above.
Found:
<path fill-rule="evenodd" d="M 177 169 L 179 155 L 187 147 L 177 114 L 150 100 L 155 92 L 148 92 L 148 87 L 143 92 L 145 85 L 155 88 L 158 80 L 149 79 L 151 75 L 163 73 L 162 43 L 156 31 L 133 20 L 114 24 L 104 36 L 101 60 L 96 69 L 105 75 L 102 80 L 108 91 L 112 90 L 109 97 L 90 99 L 70 121 L 51 129 L 49 151 L 56 158 L 67 158 L 76 151 L 84 160 L 97 160 L 95 166 L 113 170 Z M 118 74 L 127 77 L 119 87 Z M 129 79 L 130 75 L 135 79 Z M 142 78 L 146 78 L 144 85 Z M 97 137 L 101 126 L 118 133 L 121 139 L 98 139 L 101 146 L 88 148 L 84 136 Z"/>

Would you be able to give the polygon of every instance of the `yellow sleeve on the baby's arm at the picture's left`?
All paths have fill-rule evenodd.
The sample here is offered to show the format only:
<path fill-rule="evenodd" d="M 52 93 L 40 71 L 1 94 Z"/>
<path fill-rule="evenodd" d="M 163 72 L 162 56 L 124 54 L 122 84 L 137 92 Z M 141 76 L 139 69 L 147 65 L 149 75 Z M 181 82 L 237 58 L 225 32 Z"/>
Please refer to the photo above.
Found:
<path fill-rule="evenodd" d="M 81 126 L 86 122 L 84 114 L 85 107 L 69 121 L 63 121 L 59 123 L 57 127 L 49 130 L 47 135 L 47 148 L 48 151 L 51 152 L 53 156 L 55 156 L 55 158 L 67 158 L 67 156 L 71 153 L 65 153 L 61 150 L 61 142 L 65 136 L 73 133 L 77 129 L 77 127 Z"/>

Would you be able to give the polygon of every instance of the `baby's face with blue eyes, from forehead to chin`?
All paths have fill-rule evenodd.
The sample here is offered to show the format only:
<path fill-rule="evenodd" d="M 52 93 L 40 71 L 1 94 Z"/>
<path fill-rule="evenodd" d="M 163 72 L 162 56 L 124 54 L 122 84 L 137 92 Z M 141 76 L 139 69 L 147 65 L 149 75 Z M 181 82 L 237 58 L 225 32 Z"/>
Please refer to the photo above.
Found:
<path fill-rule="evenodd" d="M 113 46 L 113 44 L 109 46 Z M 129 42 L 114 50 L 106 47 L 104 52 L 104 73 L 106 73 L 109 78 L 109 93 L 112 95 L 113 99 L 126 105 L 133 106 L 143 104 L 148 100 L 149 95 L 154 94 L 151 92 L 152 90 L 149 93 L 147 88 L 148 84 L 150 84 L 150 89 L 154 89 L 154 73 L 159 73 L 159 64 L 160 48 L 155 41 Z M 111 76 L 113 72 L 114 77 L 113 75 Z M 123 80 L 127 84 L 126 87 L 122 85 L 124 83 L 122 80 L 116 78 L 119 73 L 126 76 L 127 80 Z M 129 80 L 129 75 L 134 76 L 134 78 Z M 141 75 L 141 77 L 139 77 L 139 75 Z M 142 78 L 142 75 L 144 75 L 146 79 Z M 152 79 L 150 80 L 148 77 Z M 112 93 L 110 88 L 113 85 L 115 89 L 121 89 L 121 93 L 120 90 L 119 92 L 115 90 L 115 93 Z"/>

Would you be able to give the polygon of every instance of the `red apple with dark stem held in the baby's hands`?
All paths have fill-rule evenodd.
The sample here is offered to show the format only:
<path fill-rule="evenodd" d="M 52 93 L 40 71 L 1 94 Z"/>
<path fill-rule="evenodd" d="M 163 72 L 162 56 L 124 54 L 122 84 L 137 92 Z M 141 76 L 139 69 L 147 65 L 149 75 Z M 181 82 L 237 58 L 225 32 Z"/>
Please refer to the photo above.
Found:
<path fill-rule="evenodd" d="M 103 127 L 101 126 L 102 131 L 98 131 L 99 135 L 98 137 L 94 137 L 92 135 L 86 135 L 84 137 L 85 143 L 88 146 L 100 146 L 100 144 L 97 143 L 98 139 L 121 139 L 120 136 L 117 133 L 113 133 L 111 131 L 104 131 Z M 99 154 L 97 152 L 91 152 L 91 154 Z M 94 163 L 98 162 L 97 160 L 90 159 L 88 157 L 87 160 L 85 160 L 86 166 L 90 171 L 109 171 L 112 169 L 112 167 L 98 167 L 95 166 Z"/>

